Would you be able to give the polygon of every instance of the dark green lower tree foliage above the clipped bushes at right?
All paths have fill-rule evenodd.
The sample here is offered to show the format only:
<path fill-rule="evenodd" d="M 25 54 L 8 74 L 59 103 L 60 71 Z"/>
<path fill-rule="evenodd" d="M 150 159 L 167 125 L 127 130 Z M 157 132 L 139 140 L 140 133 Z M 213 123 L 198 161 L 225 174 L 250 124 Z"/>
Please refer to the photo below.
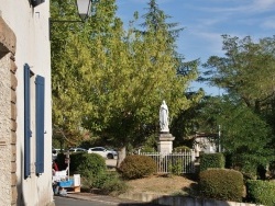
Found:
<path fill-rule="evenodd" d="M 216 137 L 228 157 L 227 167 L 255 178 L 257 168 L 274 160 L 271 126 L 240 99 L 211 96 L 199 105 L 193 118 L 196 130 Z"/>

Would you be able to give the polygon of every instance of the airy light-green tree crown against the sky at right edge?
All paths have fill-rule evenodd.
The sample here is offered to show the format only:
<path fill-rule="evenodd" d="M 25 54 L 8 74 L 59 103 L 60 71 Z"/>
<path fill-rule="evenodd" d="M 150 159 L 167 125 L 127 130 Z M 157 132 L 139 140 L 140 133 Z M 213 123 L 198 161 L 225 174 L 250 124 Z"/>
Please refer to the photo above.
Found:
<path fill-rule="evenodd" d="M 238 94 L 245 104 L 260 112 L 274 99 L 275 36 L 254 43 L 250 36 L 242 39 L 222 35 L 224 57 L 212 56 L 205 64 L 210 82 L 231 94 Z"/>

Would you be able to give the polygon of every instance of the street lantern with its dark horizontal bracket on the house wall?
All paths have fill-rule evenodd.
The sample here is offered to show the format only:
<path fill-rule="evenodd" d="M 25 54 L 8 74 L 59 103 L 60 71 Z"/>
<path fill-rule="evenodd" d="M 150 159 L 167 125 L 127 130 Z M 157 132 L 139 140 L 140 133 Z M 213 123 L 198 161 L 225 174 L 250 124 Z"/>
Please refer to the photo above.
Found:
<path fill-rule="evenodd" d="M 50 20 L 50 22 L 85 22 L 90 15 L 92 10 L 92 3 L 99 2 L 99 0 L 76 0 L 76 7 L 80 20 Z"/>

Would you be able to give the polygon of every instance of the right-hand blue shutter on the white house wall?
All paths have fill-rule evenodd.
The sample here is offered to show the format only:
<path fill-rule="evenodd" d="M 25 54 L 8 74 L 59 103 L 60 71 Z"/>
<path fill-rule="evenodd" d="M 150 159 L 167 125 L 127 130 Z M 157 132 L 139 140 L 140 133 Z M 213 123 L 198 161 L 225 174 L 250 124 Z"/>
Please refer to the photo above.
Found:
<path fill-rule="evenodd" d="M 35 79 L 36 174 L 44 173 L 45 78 Z"/>

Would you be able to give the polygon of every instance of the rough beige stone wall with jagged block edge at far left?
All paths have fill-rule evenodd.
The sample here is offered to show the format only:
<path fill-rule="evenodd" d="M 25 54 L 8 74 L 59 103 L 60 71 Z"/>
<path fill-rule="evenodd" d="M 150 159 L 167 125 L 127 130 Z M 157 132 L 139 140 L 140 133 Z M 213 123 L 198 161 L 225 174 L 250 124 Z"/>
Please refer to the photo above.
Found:
<path fill-rule="evenodd" d="M 0 203 L 16 205 L 15 35 L 0 18 Z"/>

